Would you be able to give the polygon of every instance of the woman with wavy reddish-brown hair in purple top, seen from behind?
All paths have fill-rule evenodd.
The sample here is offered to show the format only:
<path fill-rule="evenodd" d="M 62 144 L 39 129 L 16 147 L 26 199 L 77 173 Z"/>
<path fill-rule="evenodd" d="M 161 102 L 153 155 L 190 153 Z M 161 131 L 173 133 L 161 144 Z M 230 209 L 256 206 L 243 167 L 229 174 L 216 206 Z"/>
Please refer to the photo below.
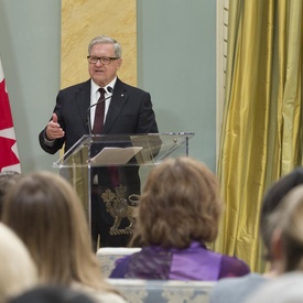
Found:
<path fill-rule="evenodd" d="M 203 163 L 163 161 L 148 176 L 138 208 L 134 238 L 144 246 L 118 260 L 110 278 L 216 281 L 247 274 L 245 262 L 206 248 L 217 237 L 221 208 L 218 182 Z"/>

